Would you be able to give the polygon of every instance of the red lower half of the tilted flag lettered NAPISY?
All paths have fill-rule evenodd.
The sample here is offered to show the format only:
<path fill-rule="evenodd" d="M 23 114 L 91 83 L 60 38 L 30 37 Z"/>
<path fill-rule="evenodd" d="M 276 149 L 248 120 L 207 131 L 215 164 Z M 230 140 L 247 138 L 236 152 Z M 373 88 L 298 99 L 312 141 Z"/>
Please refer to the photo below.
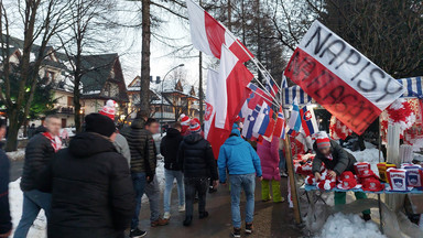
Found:
<path fill-rule="evenodd" d="M 357 134 L 365 132 L 381 112 L 370 100 L 301 48 L 295 50 L 285 76 Z"/>

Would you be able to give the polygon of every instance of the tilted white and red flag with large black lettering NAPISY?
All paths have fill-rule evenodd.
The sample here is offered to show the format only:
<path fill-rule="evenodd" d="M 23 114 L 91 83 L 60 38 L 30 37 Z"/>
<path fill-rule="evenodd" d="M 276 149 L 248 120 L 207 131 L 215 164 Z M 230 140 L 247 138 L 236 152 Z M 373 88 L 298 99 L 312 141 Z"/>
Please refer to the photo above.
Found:
<path fill-rule="evenodd" d="M 404 90 L 318 21 L 300 42 L 284 75 L 357 134 Z"/>

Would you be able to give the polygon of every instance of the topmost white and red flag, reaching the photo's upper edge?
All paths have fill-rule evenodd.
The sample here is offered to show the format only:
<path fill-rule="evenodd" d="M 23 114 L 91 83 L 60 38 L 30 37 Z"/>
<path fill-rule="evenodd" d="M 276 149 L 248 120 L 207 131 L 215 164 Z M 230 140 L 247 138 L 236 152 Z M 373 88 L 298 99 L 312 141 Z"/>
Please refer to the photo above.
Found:
<path fill-rule="evenodd" d="M 198 51 L 220 58 L 220 50 L 224 44 L 241 63 L 253 57 L 251 52 L 229 30 L 202 7 L 193 0 L 186 0 L 186 7 L 188 8 L 191 37 L 193 45 Z"/>

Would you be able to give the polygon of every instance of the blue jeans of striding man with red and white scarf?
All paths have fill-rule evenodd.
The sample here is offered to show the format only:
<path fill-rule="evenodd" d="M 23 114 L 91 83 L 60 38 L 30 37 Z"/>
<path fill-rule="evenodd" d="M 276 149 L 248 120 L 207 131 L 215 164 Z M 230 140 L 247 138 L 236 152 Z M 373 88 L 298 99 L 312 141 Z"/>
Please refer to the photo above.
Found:
<path fill-rule="evenodd" d="M 14 238 L 25 238 L 40 209 L 43 209 L 47 221 L 50 219 L 52 195 L 37 190 L 23 192 L 22 217 L 19 221 Z"/>

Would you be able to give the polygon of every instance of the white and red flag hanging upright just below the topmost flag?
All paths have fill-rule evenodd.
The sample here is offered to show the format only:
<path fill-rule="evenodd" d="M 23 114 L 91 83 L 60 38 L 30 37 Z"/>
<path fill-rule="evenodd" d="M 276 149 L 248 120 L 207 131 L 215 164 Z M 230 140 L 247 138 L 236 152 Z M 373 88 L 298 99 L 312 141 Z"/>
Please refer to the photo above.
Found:
<path fill-rule="evenodd" d="M 254 76 L 226 46 L 221 45 L 221 60 L 216 97 L 216 128 L 231 130 L 251 90 L 247 87 Z"/>

